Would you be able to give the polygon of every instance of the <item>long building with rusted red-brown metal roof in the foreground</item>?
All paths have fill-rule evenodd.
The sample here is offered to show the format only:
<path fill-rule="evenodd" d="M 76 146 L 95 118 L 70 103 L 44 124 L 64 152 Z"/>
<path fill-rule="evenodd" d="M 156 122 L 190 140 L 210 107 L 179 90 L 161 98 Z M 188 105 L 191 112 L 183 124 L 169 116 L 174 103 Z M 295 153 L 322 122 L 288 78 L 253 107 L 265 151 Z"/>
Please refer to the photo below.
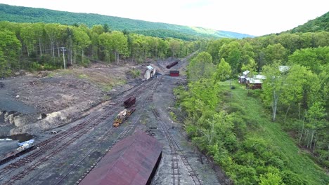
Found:
<path fill-rule="evenodd" d="M 80 184 L 150 184 L 161 155 L 162 144 L 139 130 L 118 142 Z"/>

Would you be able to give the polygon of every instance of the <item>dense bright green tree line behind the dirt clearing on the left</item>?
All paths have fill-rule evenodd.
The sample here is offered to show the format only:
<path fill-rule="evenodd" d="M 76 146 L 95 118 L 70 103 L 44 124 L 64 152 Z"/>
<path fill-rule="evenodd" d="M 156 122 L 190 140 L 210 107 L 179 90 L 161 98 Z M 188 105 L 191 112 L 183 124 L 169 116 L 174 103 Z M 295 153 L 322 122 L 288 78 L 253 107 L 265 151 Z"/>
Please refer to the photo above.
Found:
<path fill-rule="evenodd" d="M 200 41 L 160 39 L 110 31 L 108 25 L 60 25 L 0 22 L 0 73 L 18 69 L 58 69 L 90 61 L 116 62 L 146 58 L 183 57 L 198 49 Z"/>

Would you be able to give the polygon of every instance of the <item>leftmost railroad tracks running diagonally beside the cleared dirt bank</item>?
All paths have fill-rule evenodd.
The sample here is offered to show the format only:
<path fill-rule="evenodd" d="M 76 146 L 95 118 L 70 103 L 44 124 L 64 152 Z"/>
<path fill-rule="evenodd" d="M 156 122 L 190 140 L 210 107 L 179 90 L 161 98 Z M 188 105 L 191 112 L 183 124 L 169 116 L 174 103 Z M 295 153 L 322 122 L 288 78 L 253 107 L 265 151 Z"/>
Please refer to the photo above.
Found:
<path fill-rule="evenodd" d="M 108 104 L 105 106 L 107 108 L 103 109 L 103 111 L 100 111 L 97 114 L 90 116 L 89 118 L 86 117 L 83 119 L 82 123 L 79 123 L 78 125 L 75 125 L 74 127 L 64 132 L 60 132 L 58 135 L 37 144 L 34 146 L 34 148 L 37 150 L 34 150 L 33 153 L 29 153 L 27 156 L 24 156 L 19 160 L 6 165 L 0 170 L 0 182 L 5 177 L 8 178 L 8 176 L 11 176 L 10 179 L 4 181 L 4 184 L 15 184 L 16 181 L 24 178 L 32 170 L 36 170 L 37 167 L 43 164 L 46 160 L 56 156 L 56 154 L 58 154 L 60 151 L 63 151 L 67 146 L 82 137 L 82 135 L 85 135 L 87 132 L 89 132 L 89 130 L 95 128 L 99 123 L 106 121 L 106 119 L 109 117 L 109 114 L 112 115 L 116 111 L 119 111 L 120 103 L 122 103 L 124 99 L 131 97 L 132 95 L 139 95 L 148 88 L 152 87 L 154 89 L 155 85 L 152 85 L 152 81 L 147 81 L 141 85 L 138 85 L 136 88 L 131 90 L 131 93 L 128 95 L 117 98 L 114 104 Z M 111 132 L 114 132 L 114 130 L 109 130 L 107 134 L 110 135 Z M 127 135 L 123 135 L 123 137 L 125 136 Z M 106 137 L 104 137 L 104 139 L 105 138 Z M 77 165 L 79 165 L 79 163 Z M 19 172 L 13 174 L 13 171 Z"/>

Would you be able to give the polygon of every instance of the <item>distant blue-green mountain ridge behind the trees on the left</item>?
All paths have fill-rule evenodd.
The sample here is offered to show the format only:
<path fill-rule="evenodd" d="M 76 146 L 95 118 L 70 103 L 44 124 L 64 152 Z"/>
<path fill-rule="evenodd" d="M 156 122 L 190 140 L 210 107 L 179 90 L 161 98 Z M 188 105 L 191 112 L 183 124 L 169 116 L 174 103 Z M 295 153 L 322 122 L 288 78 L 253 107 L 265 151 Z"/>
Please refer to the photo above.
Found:
<path fill-rule="evenodd" d="M 236 38 L 254 37 L 249 34 L 236 32 L 219 31 L 202 27 L 188 27 L 172 25 L 161 22 L 148 22 L 143 20 L 133 20 L 129 18 L 119 18 L 108 15 L 98 15 L 94 13 L 70 13 L 65 11 L 53 11 L 44 8 L 28 8 L 23 6 L 10 6 L 0 4 L 0 21 L 9 22 L 46 22 L 60 23 L 65 25 L 85 24 L 89 27 L 93 25 L 108 24 L 110 29 L 124 30 L 158 37 L 175 37 L 184 40 L 198 38 Z"/>

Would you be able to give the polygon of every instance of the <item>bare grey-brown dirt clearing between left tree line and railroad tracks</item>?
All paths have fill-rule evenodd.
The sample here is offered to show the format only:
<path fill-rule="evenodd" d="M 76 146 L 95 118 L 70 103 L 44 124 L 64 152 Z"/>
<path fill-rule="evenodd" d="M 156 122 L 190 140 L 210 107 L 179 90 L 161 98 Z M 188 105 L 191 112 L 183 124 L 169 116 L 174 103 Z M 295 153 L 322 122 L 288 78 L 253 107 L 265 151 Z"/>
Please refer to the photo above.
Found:
<path fill-rule="evenodd" d="M 79 118 L 84 111 L 140 83 L 142 76 L 129 75 L 133 68 L 92 64 L 1 81 L 0 136 L 37 134 Z"/>

